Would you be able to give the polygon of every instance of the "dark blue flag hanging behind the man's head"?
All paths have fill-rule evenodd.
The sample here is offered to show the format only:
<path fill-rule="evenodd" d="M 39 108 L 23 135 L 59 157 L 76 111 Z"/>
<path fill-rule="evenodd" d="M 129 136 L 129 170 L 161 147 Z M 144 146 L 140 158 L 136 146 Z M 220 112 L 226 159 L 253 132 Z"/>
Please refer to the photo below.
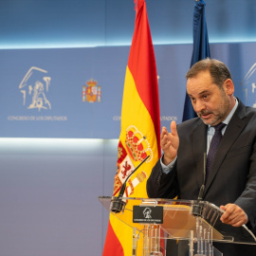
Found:
<path fill-rule="evenodd" d="M 207 57 L 210 58 L 205 6 L 206 3 L 204 0 L 195 0 L 193 9 L 193 50 L 191 66 Z M 182 120 L 185 121 L 195 117 L 196 114 L 193 111 L 191 99 L 188 94 L 186 94 Z"/>

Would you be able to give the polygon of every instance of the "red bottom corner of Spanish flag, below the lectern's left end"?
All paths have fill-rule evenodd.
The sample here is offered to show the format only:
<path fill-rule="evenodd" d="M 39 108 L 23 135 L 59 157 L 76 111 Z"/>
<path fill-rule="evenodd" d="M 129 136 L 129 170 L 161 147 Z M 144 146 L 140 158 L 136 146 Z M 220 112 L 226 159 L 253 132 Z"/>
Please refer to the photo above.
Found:
<path fill-rule="evenodd" d="M 111 223 L 109 222 L 102 256 L 111 255 L 123 256 L 124 254 L 119 239 L 115 231 L 112 229 Z"/>

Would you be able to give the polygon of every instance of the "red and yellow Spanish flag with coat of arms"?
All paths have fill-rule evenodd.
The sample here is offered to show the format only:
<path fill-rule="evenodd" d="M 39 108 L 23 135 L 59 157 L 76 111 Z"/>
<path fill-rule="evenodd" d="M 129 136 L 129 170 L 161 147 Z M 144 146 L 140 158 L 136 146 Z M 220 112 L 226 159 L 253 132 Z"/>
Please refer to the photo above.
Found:
<path fill-rule="evenodd" d="M 125 197 L 147 198 L 147 178 L 160 156 L 160 114 L 155 53 L 146 3 L 145 0 L 135 3 L 136 26 L 123 89 L 118 169 L 113 195 L 119 195 L 126 177 L 149 155 L 127 181 L 124 193 Z M 129 225 L 110 214 L 103 256 L 132 255 L 133 229 Z M 137 255 L 142 255 L 142 251 L 137 251 Z"/>

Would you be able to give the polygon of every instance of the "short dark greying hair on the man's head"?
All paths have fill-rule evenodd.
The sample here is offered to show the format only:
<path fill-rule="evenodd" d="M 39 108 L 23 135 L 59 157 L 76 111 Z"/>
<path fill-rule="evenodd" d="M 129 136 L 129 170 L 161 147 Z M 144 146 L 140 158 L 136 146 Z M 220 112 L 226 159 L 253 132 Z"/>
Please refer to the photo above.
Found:
<path fill-rule="evenodd" d="M 229 68 L 226 64 L 214 60 L 214 59 L 204 59 L 196 64 L 193 64 L 191 69 L 186 74 L 186 79 L 190 79 L 193 77 L 196 77 L 199 72 L 201 71 L 210 71 L 210 76 L 212 78 L 212 82 L 214 82 L 216 85 L 222 88 L 223 83 L 230 79 L 232 80 Z"/>

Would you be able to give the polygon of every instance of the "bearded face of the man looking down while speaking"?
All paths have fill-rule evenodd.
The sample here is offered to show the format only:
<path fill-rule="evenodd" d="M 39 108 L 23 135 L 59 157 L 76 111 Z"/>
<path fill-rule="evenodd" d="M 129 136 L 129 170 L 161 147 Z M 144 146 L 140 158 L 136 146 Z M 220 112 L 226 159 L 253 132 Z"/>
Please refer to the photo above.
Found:
<path fill-rule="evenodd" d="M 188 79 L 187 92 L 192 107 L 205 124 L 216 125 L 228 117 L 232 104 L 225 84 L 220 89 L 212 82 L 209 71 L 201 71 L 196 77 Z"/>

